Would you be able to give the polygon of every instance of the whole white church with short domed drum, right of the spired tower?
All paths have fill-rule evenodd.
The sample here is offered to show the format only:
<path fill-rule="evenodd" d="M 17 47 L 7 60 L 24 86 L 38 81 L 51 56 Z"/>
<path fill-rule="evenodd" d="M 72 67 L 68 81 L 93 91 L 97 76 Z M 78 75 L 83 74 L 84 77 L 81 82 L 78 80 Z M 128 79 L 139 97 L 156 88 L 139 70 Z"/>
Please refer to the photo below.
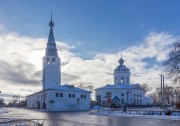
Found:
<path fill-rule="evenodd" d="M 102 106 L 107 106 L 108 98 L 113 106 L 143 106 L 152 105 L 153 100 L 145 96 L 140 84 L 130 84 L 130 69 L 124 65 L 124 60 L 119 60 L 120 65 L 114 70 L 114 84 L 95 89 L 96 101 Z"/>

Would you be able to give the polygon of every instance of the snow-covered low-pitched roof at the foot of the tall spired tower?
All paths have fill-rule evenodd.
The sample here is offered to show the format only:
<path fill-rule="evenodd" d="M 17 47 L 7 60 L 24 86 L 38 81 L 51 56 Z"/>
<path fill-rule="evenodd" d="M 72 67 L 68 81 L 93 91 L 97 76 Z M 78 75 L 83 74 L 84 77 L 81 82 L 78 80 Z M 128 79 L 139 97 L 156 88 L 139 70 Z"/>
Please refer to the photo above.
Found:
<path fill-rule="evenodd" d="M 47 91 L 47 90 L 91 93 L 91 91 L 75 87 L 74 85 L 67 85 L 67 84 L 56 86 L 56 87 L 52 87 L 52 88 L 48 88 L 48 89 L 46 89 L 44 91 Z M 33 93 L 31 95 L 28 95 L 28 96 L 32 96 L 32 95 L 35 95 L 35 94 L 40 93 L 40 92 L 43 92 L 43 90 L 41 90 L 39 92 L 35 92 L 35 93 Z M 26 96 L 26 97 L 28 97 L 28 96 Z"/>

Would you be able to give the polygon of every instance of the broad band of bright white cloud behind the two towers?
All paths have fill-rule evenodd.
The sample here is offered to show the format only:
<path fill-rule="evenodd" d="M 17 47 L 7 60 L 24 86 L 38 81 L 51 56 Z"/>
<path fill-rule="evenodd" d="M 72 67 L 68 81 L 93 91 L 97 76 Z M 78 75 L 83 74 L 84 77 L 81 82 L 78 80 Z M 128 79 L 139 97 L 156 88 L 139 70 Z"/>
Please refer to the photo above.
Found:
<path fill-rule="evenodd" d="M 166 32 L 153 32 L 144 37 L 138 45 L 114 54 L 99 53 L 90 60 L 84 60 L 72 53 L 71 49 L 75 46 L 58 41 L 62 83 L 92 84 L 95 88 L 113 83 L 113 70 L 118 66 L 122 51 L 125 65 L 131 69 L 132 82 L 147 83 L 155 88 L 160 82 L 161 62 L 166 59 L 170 45 L 177 39 L 178 37 Z M 1 76 L 4 74 L 4 78 L 0 78 L 2 93 L 20 93 L 25 96 L 41 90 L 39 73 L 46 42 L 47 38 L 32 38 L 15 33 L 0 34 L 0 73 Z M 16 76 L 24 78 L 18 80 Z"/>

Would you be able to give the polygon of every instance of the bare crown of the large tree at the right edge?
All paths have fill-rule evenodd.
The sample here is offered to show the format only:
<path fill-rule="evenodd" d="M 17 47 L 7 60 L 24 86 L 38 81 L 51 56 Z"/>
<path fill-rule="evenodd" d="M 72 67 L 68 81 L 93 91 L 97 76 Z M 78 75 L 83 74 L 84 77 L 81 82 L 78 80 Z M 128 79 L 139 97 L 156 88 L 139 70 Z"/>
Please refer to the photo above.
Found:
<path fill-rule="evenodd" d="M 173 44 L 174 49 L 169 53 L 168 59 L 163 62 L 165 71 L 174 83 L 180 82 L 180 42 Z"/>

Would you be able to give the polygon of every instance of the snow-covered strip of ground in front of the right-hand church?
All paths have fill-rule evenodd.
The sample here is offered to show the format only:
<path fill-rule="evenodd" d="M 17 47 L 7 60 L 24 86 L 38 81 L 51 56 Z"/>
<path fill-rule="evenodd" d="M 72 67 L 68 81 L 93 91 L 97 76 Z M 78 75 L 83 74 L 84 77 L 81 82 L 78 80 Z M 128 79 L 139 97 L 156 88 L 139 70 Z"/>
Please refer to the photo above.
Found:
<path fill-rule="evenodd" d="M 152 114 L 153 111 L 153 114 Z M 168 119 L 168 120 L 180 120 L 180 112 L 174 112 L 171 116 L 165 115 L 158 112 L 159 109 L 131 109 L 127 110 L 127 113 L 122 113 L 122 110 L 114 110 L 109 112 L 108 109 L 100 109 L 91 112 L 90 114 L 102 115 L 102 116 L 113 116 L 113 117 L 133 117 L 133 118 L 152 118 L 152 119 Z"/>

